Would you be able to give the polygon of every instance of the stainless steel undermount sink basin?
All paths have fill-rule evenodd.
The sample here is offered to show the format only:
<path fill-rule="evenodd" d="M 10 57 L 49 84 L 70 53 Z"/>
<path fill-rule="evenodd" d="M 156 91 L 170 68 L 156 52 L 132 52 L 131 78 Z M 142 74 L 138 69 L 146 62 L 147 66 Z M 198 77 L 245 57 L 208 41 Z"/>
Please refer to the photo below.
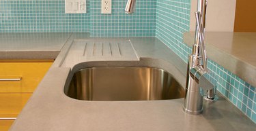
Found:
<path fill-rule="evenodd" d="M 64 91 L 79 100 L 166 100 L 185 96 L 184 88 L 171 74 L 149 67 L 81 69 Z"/>

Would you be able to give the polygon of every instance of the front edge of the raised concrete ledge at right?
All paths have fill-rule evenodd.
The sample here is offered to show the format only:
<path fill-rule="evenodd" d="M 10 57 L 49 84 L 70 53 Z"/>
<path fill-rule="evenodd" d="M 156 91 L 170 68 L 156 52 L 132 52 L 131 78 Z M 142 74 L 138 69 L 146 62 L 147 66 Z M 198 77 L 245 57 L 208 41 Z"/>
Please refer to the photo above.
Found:
<path fill-rule="evenodd" d="M 186 43 L 186 45 L 192 47 L 193 43 L 195 42 L 194 34 L 195 32 L 184 33 L 184 43 Z M 207 40 L 205 40 L 205 46 L 208 58 L 214 60 L 214 62 L 220 64 L 231 73 L 256 87 L 256 67 L 248 64 L 248 62 L 241 60 L 236 56 L 225 52 L 225 50 L 217 48 L 213 45 L 213 43 L 208 43 Z"/>

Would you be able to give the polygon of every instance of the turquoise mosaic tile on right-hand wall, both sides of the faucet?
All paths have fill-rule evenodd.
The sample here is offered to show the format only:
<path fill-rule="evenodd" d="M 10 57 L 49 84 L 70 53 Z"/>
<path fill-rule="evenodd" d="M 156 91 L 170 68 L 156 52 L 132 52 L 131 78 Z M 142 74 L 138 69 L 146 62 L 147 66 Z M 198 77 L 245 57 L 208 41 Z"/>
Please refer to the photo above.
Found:
<path fill-rule="evenodd" d="M 182 35 L 189 31 L 189 22 L 190 0 L 156 0 L 156 37 L 185 62 L 191 48 L 182 42 Z M 256 88 L 212 60 L 208 68 L 217 90 L 256 123 Z"/>

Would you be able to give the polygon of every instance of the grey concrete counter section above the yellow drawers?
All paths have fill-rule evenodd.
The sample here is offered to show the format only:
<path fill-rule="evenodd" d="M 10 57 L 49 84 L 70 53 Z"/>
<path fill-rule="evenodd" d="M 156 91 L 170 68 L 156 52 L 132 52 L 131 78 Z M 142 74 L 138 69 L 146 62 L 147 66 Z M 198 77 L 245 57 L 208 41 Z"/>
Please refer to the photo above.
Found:
<path fill-rule="evenodd" d="M 0 59 L 54 59 L 72 33 L 0 33 Z"/>

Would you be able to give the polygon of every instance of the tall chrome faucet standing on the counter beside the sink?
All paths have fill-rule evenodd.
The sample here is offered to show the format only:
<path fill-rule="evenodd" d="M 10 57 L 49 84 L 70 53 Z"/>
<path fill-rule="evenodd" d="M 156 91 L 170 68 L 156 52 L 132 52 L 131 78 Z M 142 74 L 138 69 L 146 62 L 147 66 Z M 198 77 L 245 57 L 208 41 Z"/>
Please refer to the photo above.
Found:
<path fill-rule="evenodd" d="M 207 0 L 198 0 L 197 12 L 195 12 L 197 21 L 195 43 L 192 54 L 189 56 L 187 69 L 186 96 L 183 109 L 186 113 L 194 115 L 203 111 L 204 90 L 208 92 L 205 97 L 208 100 L 214 99 L 215 96 L 215 86 L 206 76 L 208 75 L 204 44 L 206 7 Z"/>

